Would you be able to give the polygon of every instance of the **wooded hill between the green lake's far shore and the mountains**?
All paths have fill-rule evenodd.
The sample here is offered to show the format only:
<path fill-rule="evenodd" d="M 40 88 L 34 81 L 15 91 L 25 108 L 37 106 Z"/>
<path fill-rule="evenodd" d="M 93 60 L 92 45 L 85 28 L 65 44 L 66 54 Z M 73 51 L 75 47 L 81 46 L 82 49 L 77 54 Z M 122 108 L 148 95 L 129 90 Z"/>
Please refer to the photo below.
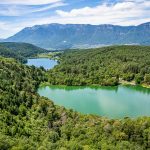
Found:
<path fill-rule="evenodd" d="M 48 72 L 50 84 L 118 85 L 123 81 L 150 85 L 150 46 L 110 46 L 68 50 Z"/>

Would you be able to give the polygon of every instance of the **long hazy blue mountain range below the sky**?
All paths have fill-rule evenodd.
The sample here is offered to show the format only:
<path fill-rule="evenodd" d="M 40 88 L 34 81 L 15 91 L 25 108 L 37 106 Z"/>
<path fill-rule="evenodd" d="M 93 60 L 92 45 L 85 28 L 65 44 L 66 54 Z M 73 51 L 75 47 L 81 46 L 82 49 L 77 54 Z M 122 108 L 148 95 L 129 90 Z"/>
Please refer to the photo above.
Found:
<path fill-rule="evenodd" d="M 150 45 L 150 22 L 138 26 L 47 24 L 27 27 L 7 42 L 26 42 L 47 49 L 88 48 L 101 45 Z"/>

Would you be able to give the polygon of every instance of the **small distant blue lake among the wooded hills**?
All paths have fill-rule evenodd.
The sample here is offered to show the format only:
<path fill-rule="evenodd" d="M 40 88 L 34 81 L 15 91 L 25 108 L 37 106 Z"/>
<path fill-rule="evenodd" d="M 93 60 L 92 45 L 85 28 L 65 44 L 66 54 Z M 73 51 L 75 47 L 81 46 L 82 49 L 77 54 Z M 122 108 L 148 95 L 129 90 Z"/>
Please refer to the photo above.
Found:
<path fill-rule="evenodd" d="M 48 58 L 34 58 L 28 59 L 27 63 L 28 66 L 35 66 L 35 67 L 44 67 L 46 70 L 52 69 L 55 65 L 57 65 L 56 60 L 48 59 Z"/>

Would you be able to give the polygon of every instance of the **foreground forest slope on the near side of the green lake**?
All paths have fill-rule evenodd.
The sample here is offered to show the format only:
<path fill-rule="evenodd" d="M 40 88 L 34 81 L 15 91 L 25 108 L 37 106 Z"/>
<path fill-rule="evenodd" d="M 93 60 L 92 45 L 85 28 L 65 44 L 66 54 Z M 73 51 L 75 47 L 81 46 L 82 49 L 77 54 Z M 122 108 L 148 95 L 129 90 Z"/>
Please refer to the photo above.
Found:
<path fill-rule="evenodd" d="M 149 117 L 111 120 L 66 110 L 36 93 L 41 82 L 42 68 L 0 57 L 1 150 L 150 148 Z"/>

